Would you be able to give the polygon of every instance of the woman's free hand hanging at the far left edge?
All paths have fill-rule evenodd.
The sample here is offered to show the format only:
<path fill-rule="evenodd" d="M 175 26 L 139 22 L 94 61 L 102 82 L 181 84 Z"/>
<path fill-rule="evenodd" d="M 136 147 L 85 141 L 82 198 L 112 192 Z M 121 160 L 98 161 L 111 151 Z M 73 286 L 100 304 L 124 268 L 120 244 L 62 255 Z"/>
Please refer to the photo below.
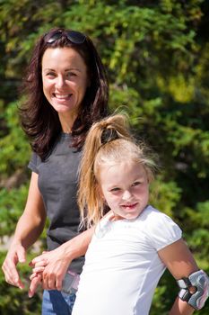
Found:
<path fill-rule="evenodd" d="M 5 281 L 8 284 L 12 284 L 17 286 L 20 289 L 24 288 L 24 284 L 22 284 L 22 280 L 17 271 L 18 263 L 25 263 L 26 261 L 26 251 L 25 248 L 22 247 L 21 243 L 12 244 L 8 253 L 4 259 L 4 263 L 2 266 L 2 270 L 4 272 Z"/>

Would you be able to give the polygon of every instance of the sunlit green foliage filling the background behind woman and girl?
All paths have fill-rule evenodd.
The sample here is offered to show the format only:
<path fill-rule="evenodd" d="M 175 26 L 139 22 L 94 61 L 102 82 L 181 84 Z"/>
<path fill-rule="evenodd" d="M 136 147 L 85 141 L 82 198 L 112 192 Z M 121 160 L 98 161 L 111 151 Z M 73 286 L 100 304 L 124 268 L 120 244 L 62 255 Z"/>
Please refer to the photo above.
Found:
<path fill-rule="evenodd" d="M 18 88 L 39 34 L 60 26 L 95 42 L 109 75 L 111 110 L 128 112 L 137 137 L 159 154 L 152 204 L 179 223 L 198 265 L 209 271 L 208 14 L 206 0 L 0 1 L 0 237 L 13 233 L 30 176 Z M 4 314 L 39 313 L 39 294 L 28 300 L 2 275 L 0 290 Z M 151 314 L 167 314 L 176 293 L 166 273 Z M 201 314 L 208 311 L 207 302 Z"/>

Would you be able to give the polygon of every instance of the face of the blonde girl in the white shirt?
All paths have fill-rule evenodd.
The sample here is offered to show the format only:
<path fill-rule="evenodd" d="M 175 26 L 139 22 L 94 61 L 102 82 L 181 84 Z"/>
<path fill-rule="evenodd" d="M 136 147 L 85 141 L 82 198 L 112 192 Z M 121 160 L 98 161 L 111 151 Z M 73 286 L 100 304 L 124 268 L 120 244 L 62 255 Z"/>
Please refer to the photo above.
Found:
<path fill-rule="evenodd" d="M 137 218 L 149 199 L 149 183 L 144 166 L 135 162 L 101 166 L 100 190 L 116 219 Z"/>

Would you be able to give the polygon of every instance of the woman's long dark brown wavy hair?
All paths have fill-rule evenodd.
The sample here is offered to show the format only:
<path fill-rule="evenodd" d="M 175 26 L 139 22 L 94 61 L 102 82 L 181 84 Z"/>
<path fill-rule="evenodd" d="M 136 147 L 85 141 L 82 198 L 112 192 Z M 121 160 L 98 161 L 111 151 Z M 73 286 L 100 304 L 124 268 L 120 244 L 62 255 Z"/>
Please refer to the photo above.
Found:
<path fill-rule="evenodd" d="M 58 39 L 48 42 L 47 39 L 57 32 L 61 34 Z M 74 40 L 68 39 L 67 32 L 70 31 L 57 28 L 39 38 L 22 85 L 22 94 L 26 95 L 26 101 L 19 108 L 22 129 L 30 139 L 32 150 L 42 159 L 48 156 L 62 130 L 56 110 L 48 103 L 43 93 L 41 62 L 46 49 L 69 47 L 76 50 L 83 58 L 90 77 L 91 84 L 87 87 L 72 129 L 73 147 L 81 148 L 91 124 L 108 114 L 108 79 L 97 49 L 88 36 L 82 34 L 83 42 L 74 43 Z"/>

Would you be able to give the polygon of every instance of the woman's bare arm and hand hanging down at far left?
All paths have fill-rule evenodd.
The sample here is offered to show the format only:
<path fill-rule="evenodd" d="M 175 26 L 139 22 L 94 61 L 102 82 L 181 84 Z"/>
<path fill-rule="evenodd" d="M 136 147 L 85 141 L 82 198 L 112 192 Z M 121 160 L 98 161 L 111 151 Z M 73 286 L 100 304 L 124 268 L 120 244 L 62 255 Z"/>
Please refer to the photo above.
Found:
<path fill-rule="evenodd" d="M 39 238 L 45 222 L 46 211 L 39 193 L 38 175 L 32 173 L 26 206 L 18 220 L 12 244 L 2 266 L 5 281 L 8 284 L 21 289 L 24 287 L 16 266 L 26 261 L 26 250 Z"/>

